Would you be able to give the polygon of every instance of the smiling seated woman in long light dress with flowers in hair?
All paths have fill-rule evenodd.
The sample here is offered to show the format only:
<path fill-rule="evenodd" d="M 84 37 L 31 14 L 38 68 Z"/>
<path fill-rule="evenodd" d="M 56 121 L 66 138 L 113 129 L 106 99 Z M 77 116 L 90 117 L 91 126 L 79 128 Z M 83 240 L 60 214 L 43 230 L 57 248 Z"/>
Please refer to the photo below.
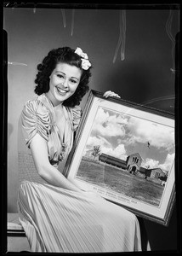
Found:
<path fill-rule="evenodd" d="M 37 69 L 38 96 L 23 108 L 19 137 L 19 143 L 22 137 L 24 141 L 19 150 L 22 181 L 18 211 L 31 251 L 140 250 L 139 223 L 134 214 L 82 191 L 58 168 L 71 151 L 81 118 L 79 104 L 91 76 L 88 55 L 80 48 L 53 49 Z M 117 94 L 107 91 L 107 96 Z"/>

